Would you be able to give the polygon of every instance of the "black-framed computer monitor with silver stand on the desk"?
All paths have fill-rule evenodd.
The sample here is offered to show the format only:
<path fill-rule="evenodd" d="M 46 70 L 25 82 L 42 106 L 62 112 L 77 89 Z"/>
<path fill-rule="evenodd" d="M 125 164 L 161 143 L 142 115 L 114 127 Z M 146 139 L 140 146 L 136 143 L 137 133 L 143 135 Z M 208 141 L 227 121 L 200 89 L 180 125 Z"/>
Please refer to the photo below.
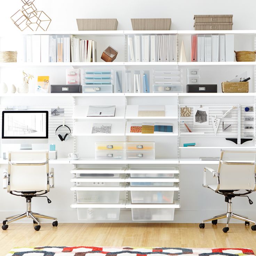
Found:
<path fill-rule="evenodd" d="M 2 111 L 2 143 L 21 144 L 21 149 L 48 143 L 48 111 Z"/>

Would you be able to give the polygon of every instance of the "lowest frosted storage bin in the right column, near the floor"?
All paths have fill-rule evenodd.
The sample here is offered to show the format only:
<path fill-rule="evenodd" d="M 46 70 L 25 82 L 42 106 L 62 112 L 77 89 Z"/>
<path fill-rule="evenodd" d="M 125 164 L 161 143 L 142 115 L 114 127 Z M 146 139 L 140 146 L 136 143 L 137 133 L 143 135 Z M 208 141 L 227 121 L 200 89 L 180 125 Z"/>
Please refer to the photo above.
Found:
<path fill-rule="evenodd" d="M 174 208 L 131 208 L 133 221 L 173 221 Z"/>

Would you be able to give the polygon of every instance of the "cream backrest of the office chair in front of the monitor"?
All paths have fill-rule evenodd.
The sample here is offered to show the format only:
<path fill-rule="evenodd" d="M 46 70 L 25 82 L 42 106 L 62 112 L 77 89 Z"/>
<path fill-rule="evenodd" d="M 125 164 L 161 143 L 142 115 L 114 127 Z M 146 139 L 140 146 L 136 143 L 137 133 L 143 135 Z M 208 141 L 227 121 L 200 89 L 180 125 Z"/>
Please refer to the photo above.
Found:
<path fill-rule="evenodd" d="M 45 163 L 38 165 L 40 163 Z M 9 153 L 8 173 L 10 191 L 29 192 L 49 190 L 47 150 L 20 150 Z"/>

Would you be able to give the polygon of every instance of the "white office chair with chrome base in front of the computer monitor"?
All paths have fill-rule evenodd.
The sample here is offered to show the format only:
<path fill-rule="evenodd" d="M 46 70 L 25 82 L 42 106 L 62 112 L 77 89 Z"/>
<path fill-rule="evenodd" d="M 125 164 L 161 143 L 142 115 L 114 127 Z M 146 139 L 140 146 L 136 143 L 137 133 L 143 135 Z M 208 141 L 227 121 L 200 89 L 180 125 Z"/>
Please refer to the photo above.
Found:
<path fill-rule="evenodd" d="M 54 187 L 54 170 L 49 173 L 49 158 L 47 150 L 12 151 L 8 157 L 8 173 L 3 174 L 3 188 L 13 195 L 26 198 L 27 210 L 23 214 L 7 217 L 3 221 L 2 229 L 8 229 L 8 224 L 22 218 L 32 218 L 37 224 L 34 229 L 40 230 L 38 218 L 54 219 L 53 226 L 58 226 L 57 218 L 33 213 L 31 199 L 39 197 Z M 46 196 L 44 196 L 46 197 Z M 51 202 L 47 197 L 48 203 Z"/>

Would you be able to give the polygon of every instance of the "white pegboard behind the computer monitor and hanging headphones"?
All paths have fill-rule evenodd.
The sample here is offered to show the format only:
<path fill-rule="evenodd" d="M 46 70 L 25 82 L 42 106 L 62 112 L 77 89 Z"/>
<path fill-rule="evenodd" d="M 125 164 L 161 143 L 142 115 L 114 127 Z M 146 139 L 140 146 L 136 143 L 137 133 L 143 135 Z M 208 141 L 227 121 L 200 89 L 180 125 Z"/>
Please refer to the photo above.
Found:
<path fill-rule="evenodd" d="M 63 116 L 51 116 L 51 109 L 64 109 L 65 125 L 73 131 L 73 105 L 72 104 L 28 104 L 28 105 L 0 105 L 1 109 L 1 120 L 2 111 L 4 110 L 46 110 L 49 112 L 49 138 L 55 137 L 55 130 L 59 125 L 63 123 Z M 2 123 L 2 122 L 1 122 Z"/>

